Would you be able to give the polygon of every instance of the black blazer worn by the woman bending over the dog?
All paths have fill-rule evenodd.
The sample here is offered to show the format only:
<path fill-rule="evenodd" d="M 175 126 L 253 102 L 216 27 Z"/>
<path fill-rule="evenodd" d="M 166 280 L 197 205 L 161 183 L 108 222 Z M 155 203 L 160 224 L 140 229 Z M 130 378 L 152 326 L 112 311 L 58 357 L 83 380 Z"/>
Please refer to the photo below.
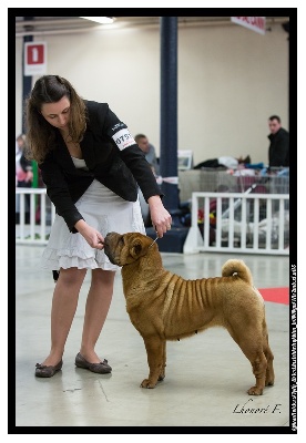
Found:
<path fill-rule="evenodd" d="M 55 127 L 57 147 L 39 165 L 47 194 L 72 233 L 78 231 L 75 223 L 83 219 L 74 203 L 94 178 L 129 202 L 137 199 L 139 186 L 145 200 L 153 195 L 163 197 L 144 153 L 129 135 L 126 125 L 108 103 L 85 101 L 85 104 L 89 122 L 80 145 L 89 171 L 75 168 Z M 125 143 L 128 147 L 122 147 Z"/>

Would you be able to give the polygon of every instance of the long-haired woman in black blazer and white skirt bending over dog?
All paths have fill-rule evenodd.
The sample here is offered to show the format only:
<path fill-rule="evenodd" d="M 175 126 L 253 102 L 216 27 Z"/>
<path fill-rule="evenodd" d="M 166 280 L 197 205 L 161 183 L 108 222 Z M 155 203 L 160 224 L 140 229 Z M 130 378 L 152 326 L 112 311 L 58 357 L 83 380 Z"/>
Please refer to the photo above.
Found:
<path fill-rule="evenodd" d="M 106 103 L 85 101 L 59 75 L 40 78 L 27 100 L 29 158 L 38 162 L 57 216 L 42 266 L 58 270 L 51 310 L 51 350 L 37 377 L 62 368 L 65 341 L 81 286 L 91 269 L 80 352 L 75 365 L 109 373 L 95 352 L 113 295 L 118 267 L 103 251 L 109 231 L 144 233 L 137 184 L 156 235 L 171 229 L 171 215 L 144 154 Z"/>

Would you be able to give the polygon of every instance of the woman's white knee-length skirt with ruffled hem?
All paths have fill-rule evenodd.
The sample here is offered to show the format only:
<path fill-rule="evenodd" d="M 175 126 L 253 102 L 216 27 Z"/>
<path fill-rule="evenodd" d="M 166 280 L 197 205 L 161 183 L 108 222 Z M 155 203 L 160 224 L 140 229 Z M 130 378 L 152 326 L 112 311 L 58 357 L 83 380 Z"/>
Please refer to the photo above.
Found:
<path fill-rule="evenodd" d="M 141 206 L 136 202 L 126 202 L 98 181 L 93 181 L 82 197 L 75 203 L 84 220 L 99 230 L 103 237 L 108 233 L 145 234 Z M 72 234 L 63 217 L 55 215 L 48 245 L 42 254 L 42 268 L 118 270 L 119 266 L 110 262 L 104 250 L 92 248 L 84 237 Z"/>

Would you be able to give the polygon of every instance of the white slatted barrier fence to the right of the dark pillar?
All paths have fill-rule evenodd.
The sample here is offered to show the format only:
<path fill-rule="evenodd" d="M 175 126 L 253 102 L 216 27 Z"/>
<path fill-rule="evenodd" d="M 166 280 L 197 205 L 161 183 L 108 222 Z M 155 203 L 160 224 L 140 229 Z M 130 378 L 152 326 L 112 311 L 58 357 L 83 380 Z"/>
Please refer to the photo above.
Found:
<path fill-rule="evenodd" d="M 288 194 L 193 193 L 183 251 L 288 255 Z"/>

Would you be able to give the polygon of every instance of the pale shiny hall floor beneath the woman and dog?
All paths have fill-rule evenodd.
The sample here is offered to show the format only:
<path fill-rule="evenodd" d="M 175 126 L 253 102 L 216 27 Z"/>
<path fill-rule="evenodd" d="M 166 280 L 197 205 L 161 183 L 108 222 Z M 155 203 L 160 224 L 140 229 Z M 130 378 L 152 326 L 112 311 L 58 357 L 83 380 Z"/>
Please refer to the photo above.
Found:
<path fill-rule="evenodd" d="M 49 352 L 53 291 L 51 274 L 40 269 L 42 250 L 41 246 L 16 248 L 17 427 L 289 426 L 289 308 L 280 303 L 266 302 L 276 380 L 262 396 L 247 395 L 246 390 L 254 383 L 251 364 L 227 331 L 218 328 L 169 342 L 165 380 L 154 390 L 141 389 L 140 382 L 147 375 L 146 353 L 125 311 L 120 274 L 98 344 L 98 352 L 113 368 L 112 374 L 99 375 L 74 365 L 88 275 L 62 371 L 51 379 L 35 378 L 35 363 Z M 228 254 L 162 256 L 165 268 L 188 279 L 220 276 L 223 262 L 231 258 Z M 251 267 L 257 288 L 288 286 L 288 257 L 241 258 Z M 261 412 L 243 412 L 247 408 Z"/>

